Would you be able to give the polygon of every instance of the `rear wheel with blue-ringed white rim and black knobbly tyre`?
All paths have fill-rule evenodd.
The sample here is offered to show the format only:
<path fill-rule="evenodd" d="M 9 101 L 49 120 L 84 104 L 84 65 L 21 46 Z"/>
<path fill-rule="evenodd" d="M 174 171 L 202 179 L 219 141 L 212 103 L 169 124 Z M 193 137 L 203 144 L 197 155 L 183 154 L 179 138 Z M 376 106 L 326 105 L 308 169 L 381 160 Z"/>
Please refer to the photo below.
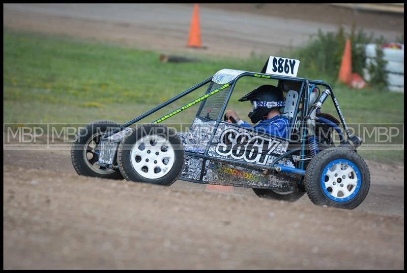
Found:
<path fill-rule="evenodd" d="M 314 204 L 352 210 L 366 198 L 369 187 L 369 168 L 350 149 L 328 148 L 307 166 L 305 190 Z"/>

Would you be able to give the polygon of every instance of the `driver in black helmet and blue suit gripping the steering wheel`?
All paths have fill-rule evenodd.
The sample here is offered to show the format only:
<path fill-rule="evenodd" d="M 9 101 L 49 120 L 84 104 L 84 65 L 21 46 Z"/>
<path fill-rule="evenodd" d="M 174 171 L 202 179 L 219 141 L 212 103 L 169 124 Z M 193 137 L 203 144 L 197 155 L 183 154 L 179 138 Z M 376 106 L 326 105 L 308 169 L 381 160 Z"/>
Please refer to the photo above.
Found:
<path fill-rule="evenodd" d="M 250 100 L 253 106 L 253 112 L 250 112 L 248 117 L 253 124 L 260 121 L 257 125 L 253 127 L 241 120 L 233 110 L 226 110 L 226 117 L 229 120 L 234 119 L 241 126 L 253 128 L 281 138 L 288 138 L 288 118 L 281 115 L 280 112 L 285 105 L 281 89 L 273 85 L 262 85 L 239 99 L 239 101 L 247 100 Z"/>

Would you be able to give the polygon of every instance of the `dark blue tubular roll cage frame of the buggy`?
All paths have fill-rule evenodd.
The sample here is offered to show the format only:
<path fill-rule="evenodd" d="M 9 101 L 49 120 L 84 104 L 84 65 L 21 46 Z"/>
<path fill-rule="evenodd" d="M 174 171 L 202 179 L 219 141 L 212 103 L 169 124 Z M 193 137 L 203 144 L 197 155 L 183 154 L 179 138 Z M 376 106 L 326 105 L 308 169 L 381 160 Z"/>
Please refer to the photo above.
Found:
<path fill-rule="evenodd" d="M 217 129 L 218 126 L 219 126 L 219 123 L 220 123 L 221 118 L 222 118 L 222 114 L 225 112 L 226 106 L 227 106 L 227 104 L 228 104 L 228 102 L 229 102 L 229 99 L 230 99 L 230 97 L 231 97 L 231 94 L 232 94 L 232 92 L 233 92 L 233 90 L 234 90 L 234 88 L 235 88 L 236 82 L 237 82 L 240 78 L 242 78 L 242 77 L 247 77 L 247 76 L 248 76 L 248 77 L 256 77 L 256 78 L 263 78 L 263 79 L 270 79 L 270 80 L 279 80 L 279 81 L 302 82 L 301 88 L 300 88 L 300 93 L 299 93 L 299 100 L 300 100 L 300 103 L 301 103 L 301 99 L 302 99 L 302 103 L 303 103 L 303 107 L 302 107 L 302 110 L 303 110 L 303 111 L 301 112 L 301 117 L 300 117 L 301 120 L 307 119 L 307 118 L 308 118 L 308 114 L 309 114 L 309 109 L 310 109 L 310 108 L 309 108 L 309 93 L 310 93 L 310 92 L 309 92 L 309 85 L 312 84 L 312 85 L 315 85 L 315 86 L 316 86 L 316 85 L 325 86 L 325 87 L 326 87 L 326 90 L 329 90 L 329 91 L 330 91 L 330 96 L 331 96 L 332 101 L 333 101 L 333 103 L 334 103 L 335 109 L 336 109 L 336 111 L 337 111 L 337 113 L 338 113 L 340 122 L 342 123 L 343 128 L 345 129 L 347 138 L 350 138 L 350 137 L 351 137 L 350 132 L 349 132 L 349 130 L 348 130 L 348 128 L 347 128 L 346 122 L 345 122 L 345 120 L 344 120 L 344 118 L 343 118 L 342 112 L 341 112 L 341 110 L 340 110 L 340 108 L 339 108 L 339 105 L 338 105 L 338 103 L 337 103 L 337 100 L 336 100 L 336 98 L 335 98 L 334 92 L 333 92 L 333 90 L 332 90 L 332 88 L 331 88 L 331 86 L 330 86 L 329 84 L 325 83 L 324 81 L 309 80 L 309 79 L 305 79 L 305 78 L 277 76 L 277 75 L 270 75 L 270 74 L 263 74 L 263 73 L 254 73 L 254 72 L 244 72 L 244 73 L 238 75 L 236 78 L 234 78 L 234 79 L 231 80 L 230 82 L 228 82 L 228 83 L 224 84 L 223 86 L 220 86 L 220 87 L 217 88 L 216 90 L 212 91 L 212 93 L 215 92 L 215 91 L 216 91 L 216 92 L 219 92 L 219 91 L 221 91 L 222 89 L 224 89 L 225 87 L 231 85 L 231 87 L 230 87 L 230 89 L 229 89 L 229 91 L 228 91 L 228 94 L 227 94 L 227 96 L 226 96 L 226 99 L 225 99 L 225 101 L 224 101 L 224 103 L 223 103 L 222 110 L 221 110 L 221 112 L 220 112 L 220 114 L 219 114 L 219 116 L 218 116 L 218 118 L 217 118 L 217 120 L 216 120 L 216 125 L 215 125 L 215 127 L 214 127 L 214 131 L 212 132 L 211 139 L 210 139 L 210 141 L 208 142 L 208 145 L 207 145 L 207 147 L 206 147 L 205 153 L 204 153 L 204 154 L 198 154 L 198 153 L 193 153 L 193 152 L 185 152 L 186 155 L 190 155 L 190 156 L 194 156 L 194 157 L 200 157 L 200 158 L 203 158 L 203 159 L 215 159 L 215 160 L 224 161 L 224 162 L 229 162 L 229 163 L 239 163 L 239 164 L 242 164 L 242 162 L 241 162 L 241 161 L 238 161 L 238 160 L 223 159 L 223 158 L 216 158 L 216 157 L 214 158 L 214 157 L 208 156 L 208 150 L 209 150 L 209 147 L 210 147 L 210 145 L 211 145 L 212 139 L 213 139 L 213 137 L 214 137 L 214 134 L 215 134 L 214 132 L 216 131 L 216 129 Z M 111 135 L 120 132 L 120 131 L 123 130 L 124 128 L 126 128 L 126 127 L 128 127 L 128 126 L 130 126 L 130 125 L 132 125 L 132 124 L 134 124 L 134 123 L 136 123 L 136 122 L 138 122 L 138 121 L 140 121 L 141 119 L 150 116 L 151 114 L 153 114 L 153 113 L 157 112 L 158 110 L 160 110 L 160 109 L 166 107 L 167 105 L 173 103 L 174 101 L 176 101 L 176 100 L 178 100 L 178 99 L 184 97 L 185 95 L 187 95 L 187 94 L 189 94 L 189 93 L 195 91 L 196 89 L 198 89 L 198 88 L 200 88 L 200 87 L 206 85 L 207 83 L 211 82 L 212 78 L 213 78 L 213 77 L 210 77 L 210 78 L 206 79 L 205 81 L 202 81 L 202 82 L 196 84 L 195 86 L 193 86 L 193 87 L 191 87 L 191 88 L 185 90 L 184 92 L 178 94 L 177 96 L 168 99 L 167 101 L 165 101 L 164 103 L 160 104 L 159 106 L 157 106 L 157 107 L 151 109 L 150 111 L 147 111 L 146 113 L 144 113 L 144 114 L 142 114 L 142 115 L 140 115 L 140 116 L 134 118 L 133 120 L 130 120 L 129 122 L 127 122 L 127 123 L 121 125 L 120 127 L 117 127 L 117 128 L 115 128 L 115 129 L 113 129 L 112 131 L 106 133 L 103 138 L 110 137 Z M 323 96 L 323 95 L 324 95 L 324 93 L 321 94 L 321 96 Z M 321 97 L 321 96 L 320 96 L 320 97 Z M 198 97 L 197 99 L 195 99 L 195 100 L 193 100 L 193 101 L 196 101 L 196 100 L 198 100 L 198 99 L 202 99 L 202 100 L 203 100 L 203 99 L 206 99 L 206 97 L 205 97 L 205 95 L 203 95 L 203 96 L 200 96 L 200 97 Z M 318 99 L 319 99 L 319 97 L 316 99 L 316 101 L 317 101 Z M 192 103 L 193 101 L 191 101 L 191 103 Z M 200 101 L 201 101 L 201 100 L 200 100 Z M 295 108 L 295 111 L 294 111 L 294 116 L 293 116 L 293 121 L 296 121 L 296 117 L 297 117 L 297 113 L 298 113 L 298 110 L 299 110 L 300 103 L 297 103 L 297 105 L 296 105 L 296 108 Z M 184 107 L 187 106 L 187 105 L 188 105 L 188 104 L 184 105 Z M 178 110 L 178 112 L 177 112 L 177 110 Z M 176 110 L 176 111 L 173 111 L 173 112 L 170 112 L 169 114 L 171 114 L 171 113 L 177 114 L 177 113 L 179 113 L 179 112 L 181 112 L 181 111 L 183 110 L 183 107 L 178 108 L 177 110 Z M 167 114 L 167 115 L 169 115 L 169 114 Z M 167 116 L 167 115 L 166 115 L 166 116 Z M 156 119 L 156 120 L 153 121 L 152 123 L 159 123 L 159 122 L 161 122 L 161 121 L 163 120 L 164 117 L 165 117 L 165 116 L 163 116 L 163 117 L 160 118 L 160 119 Z M 165 118 L 165 119 L 166 119 L 166 118 Z M 288 144 L 298 144 L 298 142 L 295 142 L 295 141 L 290 140 L 290 138 L 292 137 L 293 129 L 294 129 L 294 126 L 293 126 L 294 124 L 293 124 L 293 123 L 294 123 L 294 122 L 291 122 L 291 123 L 290 123 L 291 125 L 290 125 L 290 128 L 289 128 L 288 139 L 283 139 L 283 138 L 280 138 L 280 137 L 277 137 L 277 136 L 274 136 L 274 135 L 273 135 L 273 137 L 275 137 L 275 138 L 277 138 L 277 139 L 281 139 L 281 140 L 287 141 Z M 292 149 L 292 150 L 289 150 L 289 151 L 285 152 L 284 154 L 282 154 L 282 155 L 280 155 L 279 157 L 277 157 L 277 158 L 274 160 L 274 162 L 271 164 L 271 166 L 260 165 L 260 164 L 255 164 L 255 163 L 247 163 L 247 162 L 245 162 L 245 163 L 243 163 L 243 164 L 244 164 L 244 165 L 247 165 L 247 166 L 250 166 L 250 167 L 253 167 L 253 168 L 277 170 L 278 172 L 290 173 L 290 174 L 297 174 L 297 175 L 305 176 L 304 157 L 305 157 L 305 140 L 306 140 L 306 137 L 307 137 L 307 127 L 306 127 L 305 124 L 301 123 L 301 127 L 300 127 L 300 128 L 301 128 L 301 129 L 300 129 L 300 136 L 301 136 L 300 140 L 301 140 L 301 143 L 302 143 L 301 148 L 295 148 L 295 149 Z M 338 130 L 338 129 L 340 130 L 340 128 L 339 128 L 338 126 L 337 126 L 337 128 L 335 128 L 335 129 L 336 129 L 336 130 Z M 309 134 L 308 134 L 308 135 L 309 135 Z M 299 162 L 297 162 L 297 166 L 298 166 L 299 163 L 300 163 L 299 168 L 298 168 L 298 167 L 297 167 L 297 168 L 292 168 L 292 167 L 287 167 L 287 166 L 284 166 L 284 165 L 276 164 L 276 162 L 278 162 L 279 160 L 281 160 L 281 159 L 283 159 L 283 158 L 285 158 L 285 157 L 287 157 L 287 156 L 289 156 L 289 155 L 292 155 L 292 154 L 294 154 L 294 153 L 296 153 L 296 152 L 301 152 L 301 160 L 299 160 Z"/>

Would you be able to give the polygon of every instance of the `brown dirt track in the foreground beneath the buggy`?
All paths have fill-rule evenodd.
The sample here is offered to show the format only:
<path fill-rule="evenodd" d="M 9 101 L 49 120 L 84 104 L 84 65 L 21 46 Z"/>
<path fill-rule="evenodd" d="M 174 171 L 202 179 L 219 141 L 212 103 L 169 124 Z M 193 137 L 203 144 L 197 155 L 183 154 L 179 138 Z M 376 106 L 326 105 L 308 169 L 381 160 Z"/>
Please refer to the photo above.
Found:
<path fill-rule="evenodd" d="M 68 151 L 5 151 L 4 268 L 401 269 L 399 170 L 371 169 L 368 197 L 345 211 L 79 177 Z"/>

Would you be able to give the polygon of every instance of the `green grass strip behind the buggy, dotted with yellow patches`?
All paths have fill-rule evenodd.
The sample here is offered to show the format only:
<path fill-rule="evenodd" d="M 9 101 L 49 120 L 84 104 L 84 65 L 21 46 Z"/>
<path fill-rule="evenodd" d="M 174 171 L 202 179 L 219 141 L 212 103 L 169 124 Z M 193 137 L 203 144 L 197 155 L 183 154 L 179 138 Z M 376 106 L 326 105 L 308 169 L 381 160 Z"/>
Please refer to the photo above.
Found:
<path fill-rule="evenodd" d="M 88 123 L 98 119 L 126 122 L 223 68 L 259 72 L 265 56 L 228 59 L 198 56 L 194 63 L 159 62 L 160 52 L 95 41 L 15 32 L 3 35 L 4 123 Z M 306 71 L 299 77 L 307 77 Z M 324 79 L 321 75 L 319 79 Z M 260 81 L 260 82 L 259 82 Z M 240 80 L 229 103 L 241 117 L 237 99 L 265 80 Z M 404 123 L 404 95 L 354 90 L 331 83 L 348 123 Z M 199 91 L 203 93 L 205 88 Z M 199 95 L 192 93 L 157 112 L 152 121 Z M 187 122 L 196 108 L 174 117 Z M 337 116 L 332 103 L 323 112 Z M 403 160 L 402 151 L 362 152 L 376 161 Z"/>

